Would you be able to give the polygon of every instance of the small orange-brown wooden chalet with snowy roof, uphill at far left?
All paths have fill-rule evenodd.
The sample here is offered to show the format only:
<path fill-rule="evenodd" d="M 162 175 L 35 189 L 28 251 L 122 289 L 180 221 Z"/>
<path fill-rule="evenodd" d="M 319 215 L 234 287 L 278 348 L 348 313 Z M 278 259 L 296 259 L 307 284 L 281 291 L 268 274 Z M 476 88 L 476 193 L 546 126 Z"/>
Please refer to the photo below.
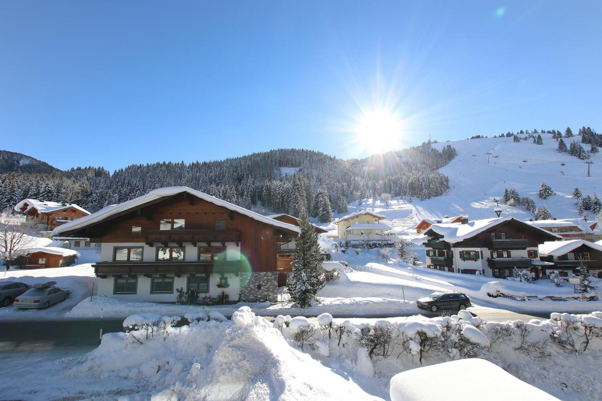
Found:
<path fill-rule="evenodd" d="M 89 211 L 75 204 L 37 199 L 23 199 L 14 205 L 14 210 L 25 214 L 27 220 L 35 220 L 45 225 L 46 231 L 52 231 L 61 224 L 90 214 Z"/>

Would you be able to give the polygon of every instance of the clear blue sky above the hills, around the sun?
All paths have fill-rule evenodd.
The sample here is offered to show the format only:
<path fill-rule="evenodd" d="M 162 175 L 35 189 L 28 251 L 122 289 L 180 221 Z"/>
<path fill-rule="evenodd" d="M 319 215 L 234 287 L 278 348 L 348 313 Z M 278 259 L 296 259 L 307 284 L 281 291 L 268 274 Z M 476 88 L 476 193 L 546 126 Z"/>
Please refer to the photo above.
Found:
<path fill-rule="evenodd" d="M 114 170 L 602 131 L 601 19 L 600 2 L 4 1 L 0 148 Z M 391 140 L 358 134 L 374 111 Z"/>

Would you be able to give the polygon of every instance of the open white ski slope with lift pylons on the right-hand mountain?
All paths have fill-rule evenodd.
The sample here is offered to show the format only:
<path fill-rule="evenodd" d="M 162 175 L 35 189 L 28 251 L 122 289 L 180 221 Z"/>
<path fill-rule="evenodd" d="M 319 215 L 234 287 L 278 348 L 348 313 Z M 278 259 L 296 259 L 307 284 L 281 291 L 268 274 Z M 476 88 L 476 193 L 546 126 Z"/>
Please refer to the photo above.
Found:
<path fill-rule="evenodd" d="M 365 209 L 384 214 L 397 229 L 410 228 L 424 217 L 468 214 L 470 219 L 484 219 L 495 217 L 494 198 L 501 199 L 504 188 L 514 187 L 521 196 L 531 197 L 537 207 L 545 205 L 557 219 L 580 217 L 571 193 L 574 187 L 579 187 L 583 195 L 602 196 L 602 155 L 591 155 L 594 164 L 588 177 L 588 165 L 583 160 L 557 152 L 557 142 L 551 134 L 542 134 L 542 138 L 544 145 L 535 145 L 531 140 L 514 142 L 512 137 L 435 143 L 432 146 L 436 149 L 451 144 L 458 152 L 454 160 L 438 170 L 449 177 L 450 190 L 424 201 L 414 198 L 409 202 L 407 198 L 395 197 L 388 205 L 380 199 L 364 199 L 362 205 L 352 202 L 349 213 Z M 580 143 L 581 137 L 564 140 L 568 146 L 573 140 Z M 491 152 L 489 163 L 488 152 Z M 542 182 L 556 194 L 548 199 L 539 198 Z M 500 202 L 500 207 L 502 216 L 533 218 L 533 214 L 518 206 Z M 593 220 L 595 216 L 589 214 Z"/>

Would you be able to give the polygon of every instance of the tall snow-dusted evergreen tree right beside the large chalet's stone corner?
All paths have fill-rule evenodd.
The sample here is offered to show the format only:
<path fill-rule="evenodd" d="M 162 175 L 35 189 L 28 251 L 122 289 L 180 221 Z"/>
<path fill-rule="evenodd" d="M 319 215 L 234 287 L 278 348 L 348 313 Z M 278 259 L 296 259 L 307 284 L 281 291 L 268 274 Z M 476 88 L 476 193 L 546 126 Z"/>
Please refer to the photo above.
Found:
<path fill-rule="evenodd" d="M 301 234 L 295 241 L 293 277 L 288 283 L 288 293 L 295 305 L 305 308 L 324 287 L 324 278 L 320 246 L 305 209 L 301 210 L 299 222 Z"/>

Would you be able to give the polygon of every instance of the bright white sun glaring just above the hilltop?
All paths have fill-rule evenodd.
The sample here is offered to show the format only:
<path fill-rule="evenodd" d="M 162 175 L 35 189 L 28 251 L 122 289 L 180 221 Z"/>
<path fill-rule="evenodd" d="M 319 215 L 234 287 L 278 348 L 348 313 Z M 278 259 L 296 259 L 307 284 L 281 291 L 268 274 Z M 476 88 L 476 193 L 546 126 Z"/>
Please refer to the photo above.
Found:
<path fill-rule="evenodd" d="M 358 121 L 356 140 L 370 152 L 397 150 L 402 128 L 402 122 L 396 114 L 383 110 L 370 111 Z"/>

